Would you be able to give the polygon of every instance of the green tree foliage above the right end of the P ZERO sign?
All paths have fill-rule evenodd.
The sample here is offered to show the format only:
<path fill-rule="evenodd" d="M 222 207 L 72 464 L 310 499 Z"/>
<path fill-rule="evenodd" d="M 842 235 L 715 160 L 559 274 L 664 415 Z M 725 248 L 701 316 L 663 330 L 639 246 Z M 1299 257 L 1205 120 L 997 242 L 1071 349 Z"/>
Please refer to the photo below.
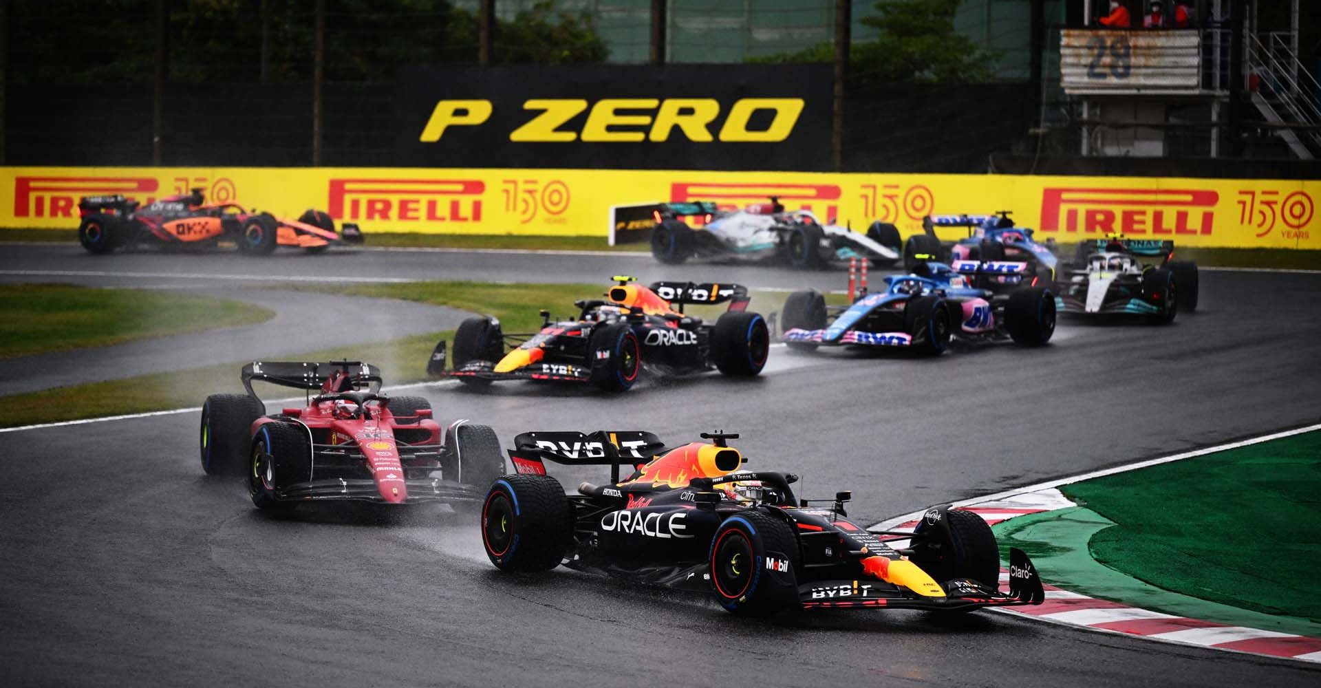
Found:
<path fill-rule="evenodd" d="M 962 0 L 880 0 L 860 22 L 876 36 L 855 40 L 848 59 L 855 82 L 976 82 L 991 77 L 995 55 L 954 30 Z M 830 62 L 831 42 L 752 62 Z"/>

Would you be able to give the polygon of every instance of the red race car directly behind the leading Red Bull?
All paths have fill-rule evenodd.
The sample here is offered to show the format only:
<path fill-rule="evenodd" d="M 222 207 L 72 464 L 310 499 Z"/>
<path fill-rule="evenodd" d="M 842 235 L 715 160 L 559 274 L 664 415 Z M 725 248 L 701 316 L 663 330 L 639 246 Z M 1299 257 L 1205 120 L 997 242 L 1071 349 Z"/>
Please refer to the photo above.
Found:
<path fill-rule="evenodd" d="M 254 362 L 242 379 L 246 395 L 211 395 L 202 405 L 202 470 L 243 474 L 259 508 L 477 503 L 505 473 L 490 428 L 462 420 L 443 428 L 425 399 L 382 395 L 375 366 Z M 268 415 L 252 382 L 305 390 L 306 401 Z"/>

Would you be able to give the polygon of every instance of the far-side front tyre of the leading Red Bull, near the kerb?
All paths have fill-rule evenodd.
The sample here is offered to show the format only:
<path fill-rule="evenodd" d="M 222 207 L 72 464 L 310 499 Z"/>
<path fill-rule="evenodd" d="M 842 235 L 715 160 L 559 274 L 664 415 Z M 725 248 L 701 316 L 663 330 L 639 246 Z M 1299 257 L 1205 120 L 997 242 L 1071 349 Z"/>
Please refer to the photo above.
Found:
<path fill-rule="evenodd" d="M 911 560 L 935 582 L 972 578 L 991 589 L 1000 588 L 1000 551 L 991 526 L 982 516 L 951 508 L 945 512 L 948 530 L 923 518 L 914 528 Z"/>

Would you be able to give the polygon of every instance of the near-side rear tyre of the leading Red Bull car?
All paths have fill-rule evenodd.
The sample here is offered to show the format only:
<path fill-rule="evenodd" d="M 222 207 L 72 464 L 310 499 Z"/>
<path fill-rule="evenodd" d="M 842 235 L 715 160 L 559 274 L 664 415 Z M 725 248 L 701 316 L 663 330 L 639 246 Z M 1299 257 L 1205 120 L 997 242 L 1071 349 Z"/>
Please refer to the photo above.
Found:
<path fill-rule="evenodd" d="M 569 499 L 550 475 L 497 479 L 482 502 L 481 527 L 486 556 L 501 570 L 553 569 L 573 537 Z"/>

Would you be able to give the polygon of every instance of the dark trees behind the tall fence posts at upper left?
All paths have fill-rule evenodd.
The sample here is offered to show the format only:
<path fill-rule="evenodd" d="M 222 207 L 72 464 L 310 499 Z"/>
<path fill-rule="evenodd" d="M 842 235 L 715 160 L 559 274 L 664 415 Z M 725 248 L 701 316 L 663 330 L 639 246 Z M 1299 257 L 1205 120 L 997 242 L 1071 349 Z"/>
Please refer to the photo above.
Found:
<path fill-rule="evenodd" d="M 313 71 L 314 0 L 168 3 L 170 81 L 306 81 Z M 155 73 L 155 0 L 9 0 L 16 82 L 131 83 Z M 473 11 L 448 0 L 326 0 L 329 81 L 390 81 L 403 65 L 477 62 Z M 608 49 L 587 12 L 542 1 L 494 26 L 494 63 L 602 62 Z"/>

